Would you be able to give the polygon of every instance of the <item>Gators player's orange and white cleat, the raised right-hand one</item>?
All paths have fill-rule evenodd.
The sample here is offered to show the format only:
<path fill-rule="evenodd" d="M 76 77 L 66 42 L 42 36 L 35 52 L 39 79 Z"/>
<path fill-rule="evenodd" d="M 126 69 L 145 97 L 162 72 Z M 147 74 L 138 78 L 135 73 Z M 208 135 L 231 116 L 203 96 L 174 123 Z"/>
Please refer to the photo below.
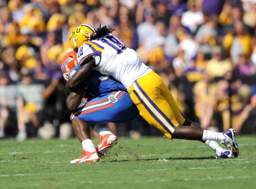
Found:
<path fill-rule="evenodd" d="M 100 136 L 100 143 L 98 144 L 96 151 L 98 152 L 98 156 L 102 157 L 106 155 L 107 151 L 117 144 L 118 138 L 113 134 L 106 134 Z"/>

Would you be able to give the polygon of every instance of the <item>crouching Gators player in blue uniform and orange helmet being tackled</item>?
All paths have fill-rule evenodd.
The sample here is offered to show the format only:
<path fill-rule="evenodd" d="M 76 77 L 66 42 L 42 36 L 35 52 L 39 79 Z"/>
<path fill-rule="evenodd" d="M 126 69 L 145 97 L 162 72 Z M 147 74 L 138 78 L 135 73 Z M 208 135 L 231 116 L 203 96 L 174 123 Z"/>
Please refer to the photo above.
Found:
<path fill-rule="evenodd" d="M 79 68 L 76 62 L 74 51 L 68 52 L 63 57 L 61 69 L 66 80 L 72 78 Z M 88 99 L 86 103 L 81 102 L 84 96 Z M 73 112 L 70 119 L 75 135 L 83 145 L 84 154 L 70 161 L 71 163 L 98 161 L 99 156 L 105 155 L 118 141 L 105 123 L 128 122 L 138 115 L 138 109 L 124 86 L 113 77 L 102 75 L 95 70 L 75 91 L 69 94 L 67 106 Z M 97 149 L 90 138 L 88 124 L 91 124 L 100 134 L 101 140 Z"/>

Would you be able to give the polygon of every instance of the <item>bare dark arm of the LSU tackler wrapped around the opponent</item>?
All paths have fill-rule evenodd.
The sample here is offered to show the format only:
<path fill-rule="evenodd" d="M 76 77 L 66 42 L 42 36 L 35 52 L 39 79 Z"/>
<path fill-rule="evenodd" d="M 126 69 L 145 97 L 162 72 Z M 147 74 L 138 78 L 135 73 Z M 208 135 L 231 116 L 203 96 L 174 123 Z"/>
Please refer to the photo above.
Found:
<path fill-rule="evenodd" d="M 85 62 L 85 63 L 84 63 Z M 66 89 L 68 91 L 74 91 L 79 84 L 81 84 L 90 74 L 92 68 L 95 66 L 95 59 L 89 57 L 81 63 L 81 66 L 77 69 L 72 78 L 66 83 Z"/>

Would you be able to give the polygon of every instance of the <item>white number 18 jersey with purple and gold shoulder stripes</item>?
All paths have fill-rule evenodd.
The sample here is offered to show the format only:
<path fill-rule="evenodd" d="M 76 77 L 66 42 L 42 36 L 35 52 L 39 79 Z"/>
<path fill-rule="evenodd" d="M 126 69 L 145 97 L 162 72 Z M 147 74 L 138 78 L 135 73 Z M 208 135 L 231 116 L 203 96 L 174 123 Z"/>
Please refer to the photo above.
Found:
<path fill-rule="evenodd" d="M 152 71 L 140 61 L 133 49 L 127 48 L 113 34 L 82 45 L 77 52 L 77 61 L 81 65 L 90 56 L 93 56 L 96 62 L 93 69 L 114 77 L 127 90 L 135 80 Z"/>

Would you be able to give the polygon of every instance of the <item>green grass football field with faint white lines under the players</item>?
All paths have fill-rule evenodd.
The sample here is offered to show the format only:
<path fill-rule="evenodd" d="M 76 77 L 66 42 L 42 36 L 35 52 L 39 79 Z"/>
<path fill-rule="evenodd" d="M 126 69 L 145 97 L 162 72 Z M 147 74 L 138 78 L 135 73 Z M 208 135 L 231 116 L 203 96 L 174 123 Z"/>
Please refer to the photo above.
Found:
<path fill-rule="evenodd" d="M 216 159 L 197 141 L 120 137 L 100 162 L 70 164 L 77 139 L 1 140 L 0 188 L 256 188 L 256 137 L 237 142 L 237 158 Z"/>

